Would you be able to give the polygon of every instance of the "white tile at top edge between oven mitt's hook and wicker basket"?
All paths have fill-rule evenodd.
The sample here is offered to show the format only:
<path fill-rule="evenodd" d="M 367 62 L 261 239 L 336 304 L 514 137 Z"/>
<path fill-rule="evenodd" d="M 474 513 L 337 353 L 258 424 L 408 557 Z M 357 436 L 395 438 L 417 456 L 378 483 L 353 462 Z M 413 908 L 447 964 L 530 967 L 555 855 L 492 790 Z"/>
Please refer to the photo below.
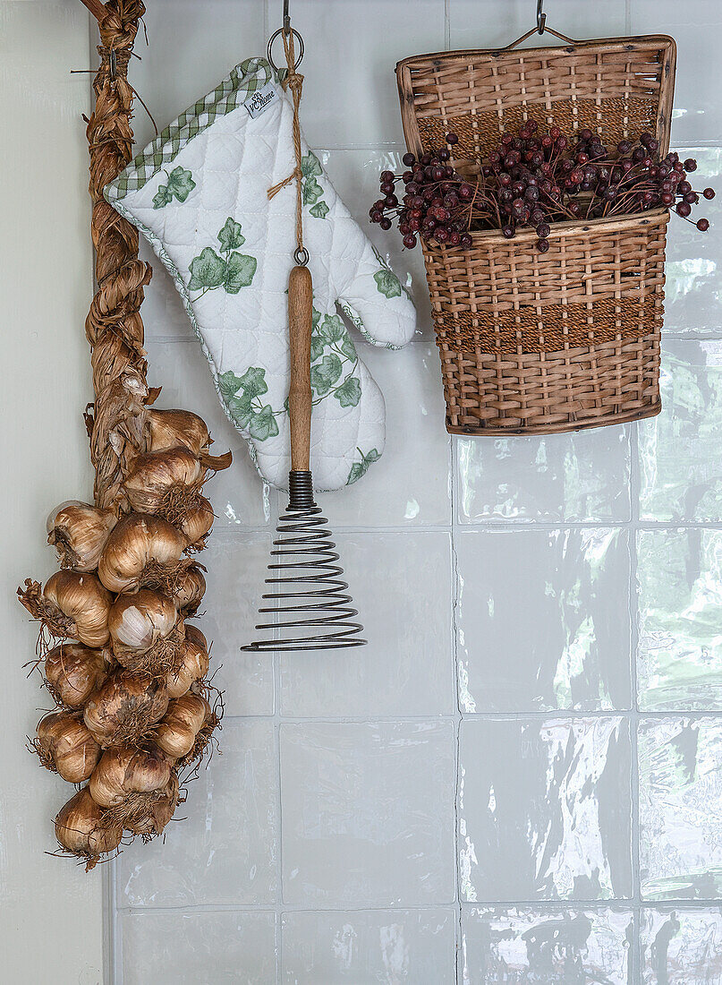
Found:
<path fill-rule="evenodd" d="M 301 125 L 309 144 L 404 146 L 395 65 L 444 47 L 444 7 L 444 0 L 416 0 L 412 9 L 387 0 L 294 0 L 292 23 L 307 41 Z M 280 5 L 270 12 L 274 26 Z"/>

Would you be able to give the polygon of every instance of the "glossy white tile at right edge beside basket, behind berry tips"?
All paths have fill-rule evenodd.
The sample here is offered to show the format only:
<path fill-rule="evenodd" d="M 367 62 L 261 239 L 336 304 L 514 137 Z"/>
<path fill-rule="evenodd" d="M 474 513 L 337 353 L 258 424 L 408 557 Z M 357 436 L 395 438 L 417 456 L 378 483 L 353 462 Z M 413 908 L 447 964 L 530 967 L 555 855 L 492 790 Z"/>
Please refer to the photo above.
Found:
<path fill-rule="evenodd" d="M 700 232 L 690 223 L 672 216 L 667 227 L 667 264 L 664 288 L 664 327 L 685 335 L 719 335 L 722 331 L 722 292 L 719 258 L 722 253 L 722 149 L 687 147 L 679 149 L 683 160 L 694 158 L 697 170 L 692 187 L 700 192 L 711 186 L 718 197 L 700 198 L 694 219 L 704 217 L 712 224 Z"/>

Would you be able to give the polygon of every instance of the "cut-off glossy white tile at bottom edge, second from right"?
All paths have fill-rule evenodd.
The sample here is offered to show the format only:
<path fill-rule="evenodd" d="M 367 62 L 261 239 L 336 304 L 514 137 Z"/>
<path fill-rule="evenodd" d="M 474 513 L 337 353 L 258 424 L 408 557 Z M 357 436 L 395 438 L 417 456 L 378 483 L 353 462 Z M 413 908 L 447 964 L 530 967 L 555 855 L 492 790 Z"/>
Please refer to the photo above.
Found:
<path fill-rule="evenodd" d="M 630 910 L 481 908 L 461 914 L 463 985 L 630 985 Z"/>

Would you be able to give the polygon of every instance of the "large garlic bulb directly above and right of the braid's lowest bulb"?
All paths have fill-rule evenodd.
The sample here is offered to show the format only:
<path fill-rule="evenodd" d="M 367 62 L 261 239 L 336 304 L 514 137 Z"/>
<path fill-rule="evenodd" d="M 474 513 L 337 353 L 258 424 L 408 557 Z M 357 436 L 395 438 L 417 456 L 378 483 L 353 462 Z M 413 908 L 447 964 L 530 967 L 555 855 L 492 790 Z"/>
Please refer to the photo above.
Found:
<path fill-rule="evenodd" d="M 102 754 L 88 786 L 96 804 L 117 808 L 134 795 L 166 787 L 170 770 L 168 758 L 157 750 L 113 749 Z"/>

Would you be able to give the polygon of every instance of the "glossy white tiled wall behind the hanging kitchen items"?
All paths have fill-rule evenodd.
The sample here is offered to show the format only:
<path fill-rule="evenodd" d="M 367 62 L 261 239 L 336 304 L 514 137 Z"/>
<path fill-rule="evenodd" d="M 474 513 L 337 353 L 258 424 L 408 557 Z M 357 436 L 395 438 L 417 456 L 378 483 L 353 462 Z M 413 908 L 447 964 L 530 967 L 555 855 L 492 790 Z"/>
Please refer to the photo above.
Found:
<path fill-rule="evenodd" d="M 159 124 L 263 51 L 280 15 L 148 6 L 134 84 Z M 402 152 L 395 61 L 506 42 L 534 8 L 291 0 L 305 129 L 352 212 Z M 677 37 L 674 143 L 695 186 L 722 191 L 722 4 L 546 9 L 576 36 Z M 112 868 L 117 982 L 722 982 L 722 216 L 706 213 L 706 237 L 671 224 L 662 415 L 544 438 L 451 441 L 420 257 L 370 230 L 420 320 L 404 352 L 362 345 L 388 450 L 324 501 L 370 639 L 348 653 L 238 651 L 278 497 L 154 264 L 161 403 L 235 453 L 207 558 L 226 718 L 187 820 Z"/>

